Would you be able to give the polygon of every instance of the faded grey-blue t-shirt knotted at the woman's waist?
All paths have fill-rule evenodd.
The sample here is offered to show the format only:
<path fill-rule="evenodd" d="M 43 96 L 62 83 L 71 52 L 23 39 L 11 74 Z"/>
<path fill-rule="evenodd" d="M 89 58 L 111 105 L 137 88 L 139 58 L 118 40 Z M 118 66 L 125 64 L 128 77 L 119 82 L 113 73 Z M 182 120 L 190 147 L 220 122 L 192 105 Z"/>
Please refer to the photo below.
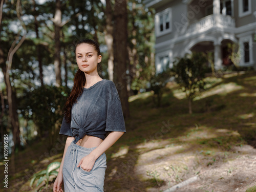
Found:
<path fill-rule="evenodd" d="M 122 106 L 113 81 L 102 79 L 90 88 L 83 88 L 72 106 L 71 122 L 62 120 L 59 134 L 75 137 L 85 135 L 105 139 L 107 132 L 126 132 Z"/>

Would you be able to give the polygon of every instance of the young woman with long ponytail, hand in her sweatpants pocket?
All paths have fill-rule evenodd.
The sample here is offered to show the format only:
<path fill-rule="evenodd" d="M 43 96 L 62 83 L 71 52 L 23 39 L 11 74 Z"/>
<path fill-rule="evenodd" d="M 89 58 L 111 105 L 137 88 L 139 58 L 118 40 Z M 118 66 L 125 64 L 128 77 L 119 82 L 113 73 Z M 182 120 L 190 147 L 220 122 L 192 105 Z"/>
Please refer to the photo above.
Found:
<path fill-rule="evenodd" d="M 121 102 L 115 84 L 98 75 L 98 44 L 80 40 L 75 52 L 79 69 L 59 132 L 68 138 L 53 191 L 63 191 L 62 183 L 65 192 L 103 191 L 104 152 L 126 132 Z"/>

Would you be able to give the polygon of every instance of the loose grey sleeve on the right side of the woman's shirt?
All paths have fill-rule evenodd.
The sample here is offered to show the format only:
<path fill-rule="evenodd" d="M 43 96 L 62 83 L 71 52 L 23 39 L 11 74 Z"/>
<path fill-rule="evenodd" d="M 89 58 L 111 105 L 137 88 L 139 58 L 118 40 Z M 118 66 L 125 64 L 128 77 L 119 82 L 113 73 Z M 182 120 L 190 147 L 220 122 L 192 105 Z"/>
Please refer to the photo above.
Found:
<path fill-rule="evenodd" d="M 121 101 L 114 82 L 110 82 L 105 131 L 126 132 Z"/>

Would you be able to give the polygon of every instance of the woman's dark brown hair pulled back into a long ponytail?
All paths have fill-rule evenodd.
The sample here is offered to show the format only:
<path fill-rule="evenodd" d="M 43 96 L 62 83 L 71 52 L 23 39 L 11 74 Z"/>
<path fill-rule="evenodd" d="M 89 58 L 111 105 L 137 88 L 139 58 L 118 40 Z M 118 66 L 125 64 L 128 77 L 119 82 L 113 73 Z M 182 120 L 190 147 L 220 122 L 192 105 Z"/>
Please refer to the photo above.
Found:
<path fill-rule="evenodd" d="M 79 46 L 81 44 L 89 44 L 89 45 L 93 46 L 94 49 L 97 51 L 97 54 L 100 55 L 99 45 L 94 40 L 92 40 L 92 39 L 79 40 L 76 43 L 75 51 L 76 51 L 77 46 Z M 77 101 L 76 100 L 77 97 L 82 93 L 84 84 L 86 84 L 86 76 L 78 68 L 76 71 L 75 77 L 74 77 L 74 86 L 72 88 L 70 96 L 68 97 L 68 99 L 66 101 L 65 108 L 64 108 L 65 118 L 66 118 L 67 122 L 71 121 L 72 106 L 73 106 L 74 102 Z"/>

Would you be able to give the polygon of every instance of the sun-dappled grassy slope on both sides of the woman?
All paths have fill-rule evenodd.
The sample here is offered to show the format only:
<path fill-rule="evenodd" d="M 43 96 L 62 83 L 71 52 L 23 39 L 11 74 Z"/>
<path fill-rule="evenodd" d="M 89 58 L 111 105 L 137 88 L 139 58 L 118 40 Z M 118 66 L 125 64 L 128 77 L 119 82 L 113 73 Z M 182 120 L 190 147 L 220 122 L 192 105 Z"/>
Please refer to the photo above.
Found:
<path fill-rule="evenodd" d="M 105 191 L 163 191 L 206 170 L 209 174 L 215 171 L 211 183 L 202 181 L 195 191 L 224 191 L 216 188 L 220 181 L 231 180 L 240 171 L 240 165 L 232 163 L 243 158 L 249 161 L 244 146 L 255 147 L 256 73 L 206 80 L 206 91 L 194 99 L 192 115 L 175 83 L 167 84 L 160 108 L 155 108 L 151 92 L 129 98 L 127 133 L 106 152 Z M 60 161 L 61 155 L 49 154 L 44 143 L 18 153 L 15 164 L 26 166 L 18 168 L 10 184 L 32 191 L 29 177 L 21 178 L 31 169 L 45 169 L 52 161 Z M 255 178 L 255 174 L 252 176 Z M 249 176 L 244 177 L 241 183 L 249 181 Z M 49 183 L 49 188 L 52 186 Z M 224 182 L 223 187 L 235 191 L 240 186 Z"/>

